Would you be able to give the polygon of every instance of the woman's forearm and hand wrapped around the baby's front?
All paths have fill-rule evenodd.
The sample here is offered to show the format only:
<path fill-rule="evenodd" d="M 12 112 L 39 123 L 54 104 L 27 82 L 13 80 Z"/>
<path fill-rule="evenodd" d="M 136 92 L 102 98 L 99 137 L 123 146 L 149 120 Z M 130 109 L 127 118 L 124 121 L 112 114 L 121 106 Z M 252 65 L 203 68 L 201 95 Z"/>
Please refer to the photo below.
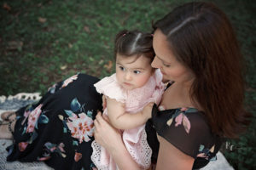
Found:
<path fill-rule="evenodd" d="M 141 169 L 126 150 L 119 131 L 105 121 L 100 112 L 97 114 L 94 124 L 94 137 L 96 142 L 101 144 L 108 153 L 113 156 L 113 160 L 118 165 L 119 169 Z"/>

